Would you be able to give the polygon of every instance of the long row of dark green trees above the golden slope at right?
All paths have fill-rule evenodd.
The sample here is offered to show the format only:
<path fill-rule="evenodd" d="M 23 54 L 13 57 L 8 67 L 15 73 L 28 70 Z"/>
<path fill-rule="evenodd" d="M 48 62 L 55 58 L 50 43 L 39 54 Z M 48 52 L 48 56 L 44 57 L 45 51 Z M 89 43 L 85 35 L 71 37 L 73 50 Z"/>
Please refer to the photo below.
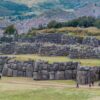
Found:
<path fill-rule="evenodd" d="M 97 27 L 100 28 L 100 18 L 94 17 L 80 17 L 67 22 L 57 22 L 52 20 L 48 23 L 47 28 L 61 28 L 61 27 Z"/>

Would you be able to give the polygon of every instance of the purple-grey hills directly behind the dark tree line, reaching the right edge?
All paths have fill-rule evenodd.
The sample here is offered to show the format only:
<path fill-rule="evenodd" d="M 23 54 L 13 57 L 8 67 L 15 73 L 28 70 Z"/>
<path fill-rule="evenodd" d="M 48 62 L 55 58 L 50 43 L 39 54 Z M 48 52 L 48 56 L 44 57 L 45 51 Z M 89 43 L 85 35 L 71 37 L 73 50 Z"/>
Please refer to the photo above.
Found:
<path fill-rule="evenodd" d="M 95 3 L 86 4 L 80 8 L 66 10 L 62 8 L 50 9 L 44 11 L 39 17 L 48 20 L 67 21 L 82 16 L 100 17 L 100 6 Z"/>

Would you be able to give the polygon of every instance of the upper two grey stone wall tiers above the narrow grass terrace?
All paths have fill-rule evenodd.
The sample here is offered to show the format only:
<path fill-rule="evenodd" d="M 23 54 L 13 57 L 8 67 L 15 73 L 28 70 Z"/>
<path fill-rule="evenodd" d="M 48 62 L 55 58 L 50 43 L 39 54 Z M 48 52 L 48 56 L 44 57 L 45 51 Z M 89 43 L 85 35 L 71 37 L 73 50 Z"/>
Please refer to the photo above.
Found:
<path fill-rule="evenodd" d="M 0 39 L 0 54 L 39 54 L 41 56 L 67 56 L 71 59 L 100 59 L 100 40 L 92 36 L 38 33 L 33 37 L 12 39 L 12 42 L 8 40 L 5 41 L 4 37 Z"/>

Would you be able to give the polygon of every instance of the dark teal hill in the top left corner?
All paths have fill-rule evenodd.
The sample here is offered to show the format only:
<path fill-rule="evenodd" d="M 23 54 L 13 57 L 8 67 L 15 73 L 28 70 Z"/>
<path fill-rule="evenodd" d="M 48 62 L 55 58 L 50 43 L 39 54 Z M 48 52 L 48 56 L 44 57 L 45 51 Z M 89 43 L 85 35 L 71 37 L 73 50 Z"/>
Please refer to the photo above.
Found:
<path fill-rule="evenodd" d="M 0 0 L 0 16 L 19 15 L 29 10 L 30 9 L 24 4 Z"/>

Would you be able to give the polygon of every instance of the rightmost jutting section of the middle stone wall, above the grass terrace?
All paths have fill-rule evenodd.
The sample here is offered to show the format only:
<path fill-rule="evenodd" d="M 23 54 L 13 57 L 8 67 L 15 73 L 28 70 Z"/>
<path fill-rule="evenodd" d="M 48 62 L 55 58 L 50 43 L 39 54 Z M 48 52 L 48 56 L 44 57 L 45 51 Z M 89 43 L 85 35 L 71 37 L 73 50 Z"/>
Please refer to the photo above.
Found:
<path fill-rule="evenodd" d="M 100 59 L 100 47 L 73 46 L 68 56 L 72 59 Z"/>

